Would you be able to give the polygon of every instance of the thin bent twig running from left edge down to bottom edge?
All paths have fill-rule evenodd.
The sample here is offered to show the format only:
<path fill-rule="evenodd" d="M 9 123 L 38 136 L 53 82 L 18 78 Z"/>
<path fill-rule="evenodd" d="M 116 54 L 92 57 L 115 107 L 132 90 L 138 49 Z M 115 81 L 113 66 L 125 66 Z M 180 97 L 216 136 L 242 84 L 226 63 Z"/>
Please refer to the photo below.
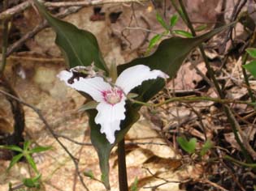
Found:
<path fill-rule="evenodd" d="M 73 163 L 75 164 L 76 167 L 76 173 L 77 175 L 80 177 L 80 182 L 81 184 L 84 186 L 84 188 L 89 191 L 88 187 L 85 185 L 85 182 L 83 180 L 83 176 L 81 176 L 80 171 L 79 171 L 79 167 L 78 167 L 78 159 L 76 159 L 75 156 L 72 155 L 72 153 L 70 151 L 67 150 L 67 147 L 63 145 L 63 142 L 61 142 L 58 138 L 58 136 L 56 134 L 54 134 L 54 130 L 51 129 L 50 125 L 48 124 L 48 122 L 46 121 L 46 118 L 42 115 L 41 110 L 39 108 L 36 108 L 35 106 L 33 106 L 32 104 L 28 104 L 26 102 L 24 102 L 23 100 L 20 100 L 20 98 L 12 96 L 11 94 L 0 90 L 0 93 L 2 93 L 5 96 L 10 97 L 13 100 L 16 100 L 18 102 L 20 102 L 20 104 L 24 104 L 25 106 L 27 106 L 28 108 L 32 108 L 34 112 L 37 112 L 37 116 L 41 119 L 41 121 L 46 125 L 46 129 L 48 129 L 50 131 L 50 134 L 53 135 L 53 137 L 55 138 L 55 140 L 59 143 L 59 145 L 61 147 L 63 147 L 63 150 L 67 152 L 67 155 L 69 155 L 69 157 L 72 159 Z"/>

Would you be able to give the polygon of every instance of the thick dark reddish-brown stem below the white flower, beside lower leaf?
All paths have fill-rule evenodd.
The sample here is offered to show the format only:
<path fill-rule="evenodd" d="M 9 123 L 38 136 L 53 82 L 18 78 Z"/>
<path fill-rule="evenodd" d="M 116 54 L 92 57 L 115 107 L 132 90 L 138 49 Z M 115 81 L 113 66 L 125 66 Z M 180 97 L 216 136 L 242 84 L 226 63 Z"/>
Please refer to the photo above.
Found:
<path fill-rule="evenodd" d="M 117 152 L 118 152 L 119 190 L 128 191 L 124 138 L 118 143 Z"/>

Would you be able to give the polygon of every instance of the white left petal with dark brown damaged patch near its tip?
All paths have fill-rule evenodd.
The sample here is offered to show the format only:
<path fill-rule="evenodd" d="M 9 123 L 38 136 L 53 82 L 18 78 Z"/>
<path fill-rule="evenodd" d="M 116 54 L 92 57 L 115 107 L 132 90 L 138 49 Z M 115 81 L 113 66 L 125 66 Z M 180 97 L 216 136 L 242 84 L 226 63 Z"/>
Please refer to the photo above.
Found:
<path fill-rule="evenodd" d="M 63 70 L 61 71 L 57 77 L 63 80 L 67 86 L 76 89 L 77 91 L 84 91 L 89 94 L 89 96 L 93 97 L 93 100 L 98 102 L 103 101 L 102 91 L 107 91 L 111 89 L 111 85 L 106 83 L 101 77 L 94 77 L 85 79 L 83 77 L 79 77 L 78 79 L 74 79 L 73 83 L 68 83 L 68 80 L 73 76 L 72 72 Z"/>

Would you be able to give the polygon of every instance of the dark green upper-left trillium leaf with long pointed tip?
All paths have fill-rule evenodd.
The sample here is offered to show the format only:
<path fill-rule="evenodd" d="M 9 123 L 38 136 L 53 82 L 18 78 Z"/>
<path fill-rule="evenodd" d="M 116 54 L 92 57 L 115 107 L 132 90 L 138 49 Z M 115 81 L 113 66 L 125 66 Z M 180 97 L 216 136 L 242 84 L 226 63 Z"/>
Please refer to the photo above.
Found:
<path fill-rule="evenodd" d="M 94 62 L 95 66 L 107 71 L 98 42 L 91 32 L 80 30 L 72 23 L 54 18 L 41 3 L 37 0 L 34 2 L 41 15 L 56 32 L 55 42 L 62 50 L 68 67 L 89 66 Z"/>

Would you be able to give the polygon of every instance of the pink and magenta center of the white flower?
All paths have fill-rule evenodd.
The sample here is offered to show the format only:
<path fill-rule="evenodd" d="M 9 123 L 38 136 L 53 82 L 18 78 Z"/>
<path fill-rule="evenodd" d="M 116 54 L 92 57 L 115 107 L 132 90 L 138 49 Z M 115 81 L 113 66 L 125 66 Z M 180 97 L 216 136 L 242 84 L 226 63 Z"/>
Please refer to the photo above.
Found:
<path fill-rule="evenodd" d="M 114 105 L 122 100 L 123 91 L 117 87 L 113 87 L 111 90 L 102 91 L 102 95 L 108 104 Z"/>

